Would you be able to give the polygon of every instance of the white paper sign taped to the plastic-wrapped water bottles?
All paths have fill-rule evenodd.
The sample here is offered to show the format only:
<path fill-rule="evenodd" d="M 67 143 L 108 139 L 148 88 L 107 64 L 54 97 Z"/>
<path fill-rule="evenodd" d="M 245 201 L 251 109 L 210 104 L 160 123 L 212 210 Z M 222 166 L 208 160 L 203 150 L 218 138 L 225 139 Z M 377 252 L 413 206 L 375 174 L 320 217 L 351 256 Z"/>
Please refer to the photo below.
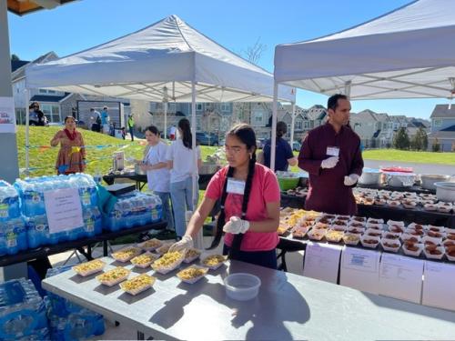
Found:
<path fill-rule="evenodd" d="M 84 226 L 81 200 L 76 188 L 45 192 L 45 211 L 51 234 Z"/>

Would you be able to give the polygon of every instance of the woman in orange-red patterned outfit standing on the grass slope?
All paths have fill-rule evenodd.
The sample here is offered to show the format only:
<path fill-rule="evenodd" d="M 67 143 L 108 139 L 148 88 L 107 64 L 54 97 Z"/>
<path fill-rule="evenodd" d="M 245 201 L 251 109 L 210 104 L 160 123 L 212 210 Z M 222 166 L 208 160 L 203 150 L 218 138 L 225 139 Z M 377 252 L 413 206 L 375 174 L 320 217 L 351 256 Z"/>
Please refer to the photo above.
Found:
<path fill-rule="evenodd" d="M 52 146 L 60 144 L 56 159 L 57 175 L 83 173 L 86 169 L 86 147 L 82 134 L 76 131 L 73 116 L 65 117 L 65 129 L 56 132 L 51 140 Z"/>

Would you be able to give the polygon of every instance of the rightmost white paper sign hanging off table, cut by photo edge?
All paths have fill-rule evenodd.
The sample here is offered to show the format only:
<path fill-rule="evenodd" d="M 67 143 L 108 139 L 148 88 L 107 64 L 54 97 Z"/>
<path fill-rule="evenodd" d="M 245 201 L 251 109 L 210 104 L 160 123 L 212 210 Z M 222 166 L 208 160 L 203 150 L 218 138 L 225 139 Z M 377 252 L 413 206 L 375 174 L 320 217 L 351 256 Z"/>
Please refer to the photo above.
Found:
<path fill-rule="evenodd" d="M 455 310 L 455 265 L 425 261 L 422 305 Z"/>

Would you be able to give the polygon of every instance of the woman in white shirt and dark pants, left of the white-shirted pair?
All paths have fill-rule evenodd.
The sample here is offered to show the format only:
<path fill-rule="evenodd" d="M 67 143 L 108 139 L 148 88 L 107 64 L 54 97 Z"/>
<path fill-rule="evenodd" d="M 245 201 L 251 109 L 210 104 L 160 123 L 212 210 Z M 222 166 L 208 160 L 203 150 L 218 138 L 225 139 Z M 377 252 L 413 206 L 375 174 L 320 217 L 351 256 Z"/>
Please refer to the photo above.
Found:
<path fill-rule="evenodd" d="M 163 220 L 167 221 L 167 229 L 173 230 L 174 219 L 169 205 L 170 175 L 167 169 L 166 158 L 169 146 L 159 139 L 159 131 L 155 125 L 147 127 L 146 139 L 149 148 L 141 168 L 147 171 L 148 189 L 161 198 L 163 203 Z"/>

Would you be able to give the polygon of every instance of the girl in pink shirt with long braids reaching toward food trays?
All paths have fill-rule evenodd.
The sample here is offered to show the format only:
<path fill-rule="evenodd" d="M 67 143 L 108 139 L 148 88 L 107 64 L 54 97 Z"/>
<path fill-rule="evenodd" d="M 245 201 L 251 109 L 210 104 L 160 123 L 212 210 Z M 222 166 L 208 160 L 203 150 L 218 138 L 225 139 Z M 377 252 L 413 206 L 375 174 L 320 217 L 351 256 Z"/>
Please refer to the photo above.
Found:
<path fill-rule="evenodd" d="M 212 177 L 206 195 L 191 217 L 185 236 L 172 251 L 193 246 L 193 237 L 217 200 L 221 212 L 217 234 L 210 248 L 226 232 L 223 253 L 231 259 L 277 268 L 279 186 L 275 174 L 256 163 L 256 135 L 246 124 L 234 126 L 226 135 L 227 165 Z"/>

